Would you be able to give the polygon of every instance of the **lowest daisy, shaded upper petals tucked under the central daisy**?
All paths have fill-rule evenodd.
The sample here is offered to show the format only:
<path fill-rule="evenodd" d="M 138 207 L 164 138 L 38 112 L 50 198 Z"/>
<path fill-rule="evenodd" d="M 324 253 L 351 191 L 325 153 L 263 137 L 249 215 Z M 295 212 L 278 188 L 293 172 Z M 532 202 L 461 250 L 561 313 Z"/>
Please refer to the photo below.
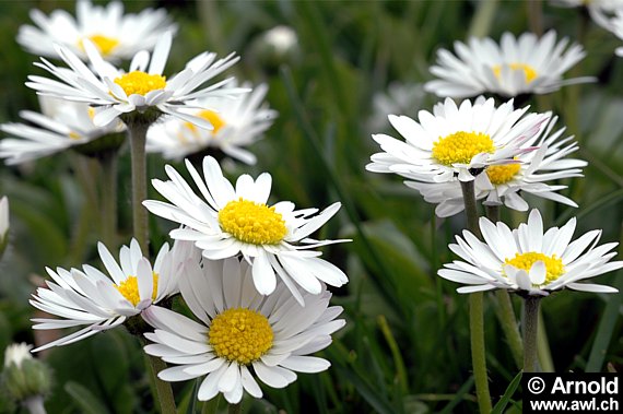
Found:
<path fill-rule="evenodd" d="M 236 404 L 245 391 L 262 397 L 257 379 L 284 388 L 296 380 L 296 371 L 329 368 L 328 360 L 308 356 L 329 346 L 331 334 L 345 323 L 336 319 L 341 307 L 328 307 L 329 292 L 304 293 L 307 305 L 302 307 L 283 284 L 269 297 L 258 293 L 250 282 L 251 269 L 235 258 L 205 261 L 203 269 L 186 263 L 184 269 L 180 292 L 200 322 L 157 306 L 143 312 L 155 328 L 145 333 L 154 344 L 144 351 L 176 365 L 158 372 L 162 380 L 205 376 L 199 400 L 221 392 Z"/>

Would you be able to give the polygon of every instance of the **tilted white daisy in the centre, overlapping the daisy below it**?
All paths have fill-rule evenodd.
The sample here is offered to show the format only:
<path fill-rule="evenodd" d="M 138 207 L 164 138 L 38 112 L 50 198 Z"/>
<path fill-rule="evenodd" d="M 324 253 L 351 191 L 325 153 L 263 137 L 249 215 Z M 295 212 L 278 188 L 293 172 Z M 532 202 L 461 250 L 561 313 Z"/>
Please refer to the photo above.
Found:
<path fill-rule="evenodd" d="M 203 250 L 203 257 L 210 260 L 242 253 L 252 264 L 252 280 L 262 295 L 274 292 L 277 276 L 301 304 L 304 299 L 295 283 L 312 294 L 320 294 L 320 281 L 331 286 L 348 282 L 340 269 L 320 259 L 320 252 L 313 249 L 350 240 L 308 237 L 340 210 L 339 202 L 315 216 L 317 209 L 294 210 L 294 203 L 290 201 L 269 206 L 272 177 L 268 173 L 256 180 L 242 175 L 234 188 L 211 156 L 203 158 L 203 178 L 188 159 L 186 167 L 202 198 L 167 165 L 165 169 L 171 180 L 154 179 L 152 184 L 172 204 L 154 200 L 143 202 L 153 214 L 188 227 L 172 230 L 171 237 L 195 241 Z"/>

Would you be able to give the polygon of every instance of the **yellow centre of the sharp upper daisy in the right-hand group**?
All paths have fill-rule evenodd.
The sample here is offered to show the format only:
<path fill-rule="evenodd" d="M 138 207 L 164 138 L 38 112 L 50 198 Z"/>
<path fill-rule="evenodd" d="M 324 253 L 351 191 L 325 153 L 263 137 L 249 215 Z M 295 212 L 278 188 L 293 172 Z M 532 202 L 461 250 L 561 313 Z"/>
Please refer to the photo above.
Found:
<path fill-rule="evenodd" d="M 494 151 L 493 140 L 482 132 L 458 131 L 433 144 L 433 157 L 444 165 L 469 164 L 475 155 Z"/>

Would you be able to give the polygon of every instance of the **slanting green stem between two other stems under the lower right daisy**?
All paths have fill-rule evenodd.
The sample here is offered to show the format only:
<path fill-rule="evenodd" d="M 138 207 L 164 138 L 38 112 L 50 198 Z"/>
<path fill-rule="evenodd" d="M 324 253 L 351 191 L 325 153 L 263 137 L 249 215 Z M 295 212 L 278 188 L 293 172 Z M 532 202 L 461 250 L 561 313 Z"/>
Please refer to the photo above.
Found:
<path fill-rule="evenodd" d="M 486 205 L 485 211 L 489 220 L 494 223 L 499 222 L 498 205 Z M 495 291 L 495 316 L 502 326 L 513 359 L 515 360 L 517 368 L 521 368 L 524 364 L 524 344 L 521 343 L 521 334 L 519 333 L 517 318 L 515 317 L 515 310 L 513 309 L 513 300 L 506 289 Z"/>

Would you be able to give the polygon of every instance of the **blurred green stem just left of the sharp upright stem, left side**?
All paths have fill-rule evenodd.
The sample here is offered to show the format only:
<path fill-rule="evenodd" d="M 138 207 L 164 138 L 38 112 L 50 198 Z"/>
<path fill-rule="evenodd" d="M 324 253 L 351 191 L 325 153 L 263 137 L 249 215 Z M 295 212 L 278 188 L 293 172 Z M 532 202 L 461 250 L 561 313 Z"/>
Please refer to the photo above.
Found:
<path fill-rule="evenodd" d="M 117 239 L 117 151 L 106 151 L 99 156 L 102 169 L 102 241 L 114 249 Z"/>

